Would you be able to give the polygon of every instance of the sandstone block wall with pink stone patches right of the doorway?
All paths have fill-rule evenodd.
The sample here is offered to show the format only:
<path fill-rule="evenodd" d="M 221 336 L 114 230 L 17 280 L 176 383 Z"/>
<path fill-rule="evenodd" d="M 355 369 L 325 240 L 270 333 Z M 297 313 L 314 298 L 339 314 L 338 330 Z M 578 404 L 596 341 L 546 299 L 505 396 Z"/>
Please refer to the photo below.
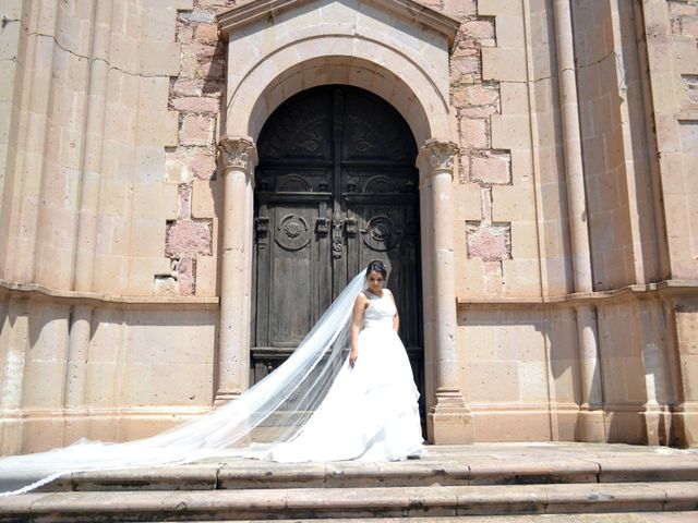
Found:
<path fill-rule="evenodd" d="M 682 391 L 693 343 L 685 327 L 672 332 L 674 311 L 686 321 L 693 299 L 675 301 L 651 282 L 690 279 L 698 267 L 698 183 L 687 182 L 695 169 L 686 167 L 695 163 L 696 4 L 570 2 L 594 291 L 577 302 L 554 4 L 466 3 L 443 9 L 464 22 L 452 54 L 461 146 L 458 342 L 476 439 L 580 437 L 577 411 L 587 400 L 575 311 L 588 304 L 604 438 L 685 441 L 684 422 L 672 431 L 641 413 L 689 409 Z M 662 134 L 663 121 L 673 134 Z"/>

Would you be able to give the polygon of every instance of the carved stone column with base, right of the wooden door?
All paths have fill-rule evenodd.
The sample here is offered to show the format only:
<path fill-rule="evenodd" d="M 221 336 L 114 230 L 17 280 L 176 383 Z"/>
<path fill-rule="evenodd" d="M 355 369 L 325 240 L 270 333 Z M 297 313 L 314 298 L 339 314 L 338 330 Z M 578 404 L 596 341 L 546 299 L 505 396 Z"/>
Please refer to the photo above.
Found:
<path fill-rule="evenodd" d="M 459 387 L 456 351 L 456 294 L 454 275 L 454 158 L 458 147 L 453 142 L 430 139 L 422 147 L 420 166 L 422 197 L 431 197 L 430 250 L 432 296 L 434 305 L 432 345 L 434 348 L 435 402 L 429 412 L 430 440 L 434 443 L 472 441 L 472 415 Z"/>

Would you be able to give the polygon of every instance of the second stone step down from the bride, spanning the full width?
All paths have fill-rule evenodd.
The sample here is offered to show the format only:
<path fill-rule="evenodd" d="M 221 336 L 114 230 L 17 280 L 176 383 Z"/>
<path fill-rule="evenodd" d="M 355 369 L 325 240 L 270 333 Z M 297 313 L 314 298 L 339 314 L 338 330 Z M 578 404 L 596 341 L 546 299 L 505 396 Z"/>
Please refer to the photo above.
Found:
<path fill-rule="evenodd" d="M 0 521 L 244 521 L 698 510 L 698 482 L 45 492 L 0 500 Z M 682 515 L 683 516 L 683 515 Z"/>

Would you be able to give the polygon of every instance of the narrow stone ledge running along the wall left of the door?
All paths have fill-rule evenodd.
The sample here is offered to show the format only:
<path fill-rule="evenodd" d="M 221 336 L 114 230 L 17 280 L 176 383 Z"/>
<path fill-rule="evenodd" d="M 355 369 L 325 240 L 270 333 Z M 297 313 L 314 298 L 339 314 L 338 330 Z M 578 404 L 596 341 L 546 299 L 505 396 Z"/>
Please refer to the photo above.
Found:
<path fill-rule="evenodd" d="M 218 297 L 209 296 L 113 296 L 99 292 L 80 292 L 51 289 L 39 283 L 16 283 L 8 280 L 0 280 L 0 296 L 17 296 L 27 299 L 56 299 L 73 305 L 140 305 L 157 306 L 170 309 L 218 309 Z"/>

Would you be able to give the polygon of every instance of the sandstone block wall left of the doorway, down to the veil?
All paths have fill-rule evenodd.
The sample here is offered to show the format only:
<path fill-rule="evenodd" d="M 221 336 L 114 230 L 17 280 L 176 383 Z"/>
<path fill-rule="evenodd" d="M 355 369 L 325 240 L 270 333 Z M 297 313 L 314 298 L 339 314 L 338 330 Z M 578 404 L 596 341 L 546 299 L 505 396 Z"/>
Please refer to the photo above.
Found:
<path fill-rule="evenodd" d="M 212 404 L 225 62 L 193 8 L 0 5 L 2 452 Z"/>

